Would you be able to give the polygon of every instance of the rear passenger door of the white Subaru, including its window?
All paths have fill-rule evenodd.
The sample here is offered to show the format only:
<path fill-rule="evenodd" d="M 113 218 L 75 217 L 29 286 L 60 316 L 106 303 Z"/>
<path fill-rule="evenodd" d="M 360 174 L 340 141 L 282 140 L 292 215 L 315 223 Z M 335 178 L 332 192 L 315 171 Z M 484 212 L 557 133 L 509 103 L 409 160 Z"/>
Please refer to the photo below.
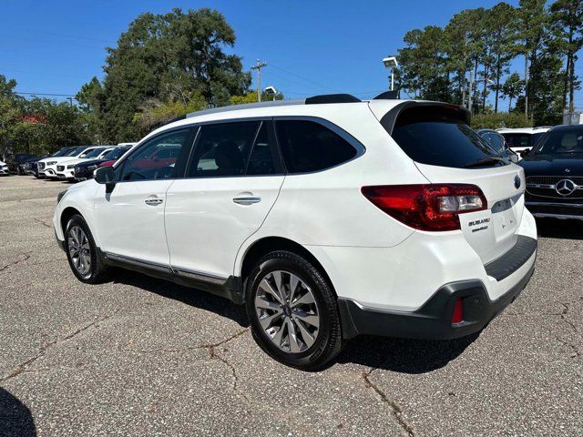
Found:
<path fill-rule="evenodd" d="M 261 227 L 284 175 L 271 120 L 200 127 L 187 168 L 167 193 L 170 264 L 182 275 L 226 279 Z"/>

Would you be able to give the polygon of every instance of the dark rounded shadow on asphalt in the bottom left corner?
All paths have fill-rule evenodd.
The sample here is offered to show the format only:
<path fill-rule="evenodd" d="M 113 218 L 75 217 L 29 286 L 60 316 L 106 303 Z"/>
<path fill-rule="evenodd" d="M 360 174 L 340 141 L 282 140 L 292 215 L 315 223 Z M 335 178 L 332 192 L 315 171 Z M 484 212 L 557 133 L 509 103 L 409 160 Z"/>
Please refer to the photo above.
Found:
<path fill-rule="evenodd" d="M 0 388 L 0 435 L 3 437 L 36 436 L 35 421 L 28 407 L 2 388 Z"/>

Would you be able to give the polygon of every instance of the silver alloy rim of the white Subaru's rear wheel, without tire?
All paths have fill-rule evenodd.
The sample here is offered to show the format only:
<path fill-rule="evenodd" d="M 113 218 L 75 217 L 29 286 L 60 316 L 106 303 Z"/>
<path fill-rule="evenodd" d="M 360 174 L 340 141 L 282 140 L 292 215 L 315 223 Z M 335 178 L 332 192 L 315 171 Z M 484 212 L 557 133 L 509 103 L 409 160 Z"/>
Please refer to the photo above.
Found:
<path fill-rule="evenodd" d="M 281 351 L 306 351 L 318 338 L 318 304 L 310 287 L 293 273 L 275 270 L 265 275 L 254 304 L 262 330 Z"/>

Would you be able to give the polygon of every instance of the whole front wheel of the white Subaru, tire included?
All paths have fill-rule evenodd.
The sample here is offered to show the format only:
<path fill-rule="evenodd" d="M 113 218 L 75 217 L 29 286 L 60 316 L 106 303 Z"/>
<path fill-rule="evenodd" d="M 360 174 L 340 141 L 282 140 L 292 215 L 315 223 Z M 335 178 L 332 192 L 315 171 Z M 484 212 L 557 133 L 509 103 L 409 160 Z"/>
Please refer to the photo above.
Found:
<path fill-rule="evenodd" d="M 71 217 L 66 225 L 65 249 L 69 267 L 81 282 L 98 284 L 107 279 L 107 266 L 97 253 L 91 230 L 78 214 Z"/>

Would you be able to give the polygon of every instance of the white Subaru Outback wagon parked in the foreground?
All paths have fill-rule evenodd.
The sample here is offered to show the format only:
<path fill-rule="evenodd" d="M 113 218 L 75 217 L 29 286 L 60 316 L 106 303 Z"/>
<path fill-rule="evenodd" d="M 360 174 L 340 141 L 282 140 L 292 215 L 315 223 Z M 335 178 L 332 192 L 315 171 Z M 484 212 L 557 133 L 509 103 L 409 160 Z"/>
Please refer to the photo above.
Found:
<path fill-rule="evenodd" d="M 58 197 L 77 279 L 110 266 L 245 305 L 271 357 L 483 329 L 532 275 L 522 168 L 461 107 L 348 95 L 193 113 Z M 193 291 L 198 292 L 198 291 Z"/>

